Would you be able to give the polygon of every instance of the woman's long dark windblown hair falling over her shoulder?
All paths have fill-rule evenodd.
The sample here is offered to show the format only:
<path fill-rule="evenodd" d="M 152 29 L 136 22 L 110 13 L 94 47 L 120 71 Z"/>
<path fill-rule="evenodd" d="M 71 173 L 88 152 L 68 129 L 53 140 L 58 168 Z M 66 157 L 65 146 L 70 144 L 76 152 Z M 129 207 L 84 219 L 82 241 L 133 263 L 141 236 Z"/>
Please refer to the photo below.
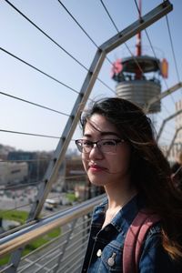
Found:
<path fill-rule="evenodd" d="M 131 182 L 161 218 L 163 247 L 171 258 L 182 258 L 182 196 L 174 187 L 150 119 L 141 108 L 118 97 L 101 99 L 86 110 L 80 118 L 83 130 L 93 114 L 105 116 L 130 144 Z"/>

